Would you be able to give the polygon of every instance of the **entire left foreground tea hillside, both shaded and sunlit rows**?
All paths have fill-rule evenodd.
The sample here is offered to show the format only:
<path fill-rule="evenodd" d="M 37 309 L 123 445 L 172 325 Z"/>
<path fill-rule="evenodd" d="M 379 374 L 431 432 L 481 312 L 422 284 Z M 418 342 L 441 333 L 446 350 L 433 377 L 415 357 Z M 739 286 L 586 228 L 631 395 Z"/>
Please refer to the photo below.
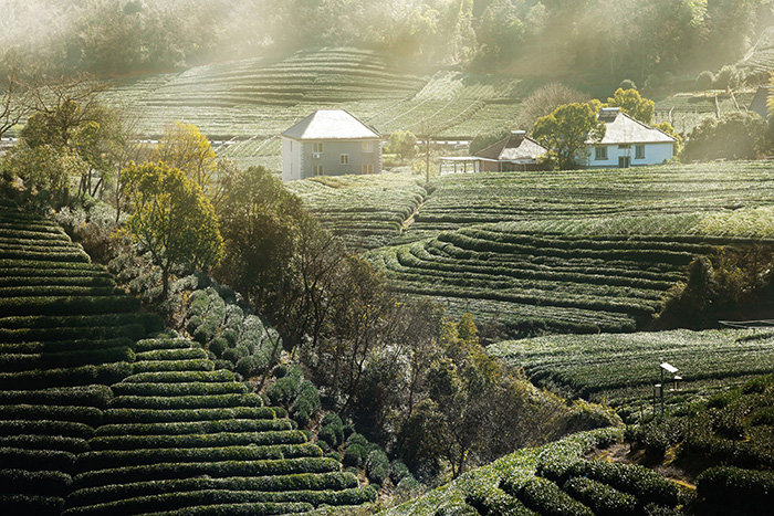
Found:
<path fill-rule="evenodd" d="M 13 514 L 286 514 L 375 491 L 54 224 L 0 207 L 0 506 Z"/>

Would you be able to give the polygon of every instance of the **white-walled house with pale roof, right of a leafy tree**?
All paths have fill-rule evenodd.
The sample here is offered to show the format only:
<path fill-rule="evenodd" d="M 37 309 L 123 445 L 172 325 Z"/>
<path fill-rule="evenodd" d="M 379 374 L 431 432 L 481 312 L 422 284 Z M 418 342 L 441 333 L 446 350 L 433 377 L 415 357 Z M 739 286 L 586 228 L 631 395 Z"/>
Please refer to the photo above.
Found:
<path fill-rule="evenodd" d="M 586 156 L 580 162 L 587 168 L 659 165 L 674 156 L 673 137 L 631 118 L 618 107 L 603 108 L 597 118 L 607 130 L 602 141 L 586 141 Z"/>

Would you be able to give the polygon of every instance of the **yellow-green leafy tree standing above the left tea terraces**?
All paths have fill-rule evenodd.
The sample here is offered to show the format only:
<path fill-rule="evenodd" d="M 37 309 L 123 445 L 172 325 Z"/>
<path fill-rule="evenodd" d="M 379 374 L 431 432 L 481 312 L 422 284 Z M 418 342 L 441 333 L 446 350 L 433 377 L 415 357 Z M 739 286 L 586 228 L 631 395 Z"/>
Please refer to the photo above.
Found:
<path fill-rule="evenodd" d="M 164 162 L 132 162 L 121 175 L 134 210 L 123 232 L 150 252 L 166 299 L 174 266 L 208 268 L 222 257 L 215 209 L 198 185 Z"/>

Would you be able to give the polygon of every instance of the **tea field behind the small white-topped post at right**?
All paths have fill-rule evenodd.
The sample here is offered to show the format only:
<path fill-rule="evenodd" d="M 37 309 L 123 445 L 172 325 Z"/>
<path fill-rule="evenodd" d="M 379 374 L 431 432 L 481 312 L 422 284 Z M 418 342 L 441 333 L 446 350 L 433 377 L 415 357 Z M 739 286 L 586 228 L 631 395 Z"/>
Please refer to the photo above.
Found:
<path fill-rule="evenodd" d="M 635 421 L 650 413 L 661 362 L 678 367 L 682 377 L 680 392 L 666 399 L 667 407 L 677 406 L 771 372 L 774 335 L 747 329 L 553 335 L 487 350 L 523 368 L 536 385 L 605 401 L 625 420 Z"/>

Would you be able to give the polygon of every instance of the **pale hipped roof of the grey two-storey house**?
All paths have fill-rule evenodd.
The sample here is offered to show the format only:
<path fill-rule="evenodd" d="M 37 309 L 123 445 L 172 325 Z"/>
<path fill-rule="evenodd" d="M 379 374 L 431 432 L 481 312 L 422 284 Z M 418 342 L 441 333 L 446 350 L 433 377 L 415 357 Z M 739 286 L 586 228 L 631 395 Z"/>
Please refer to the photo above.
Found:
<path fill-rule="evenodd" d="M 344 109 L 312 113 L 282 136 L 293 139 L 380 139 L 381 135 Z"/>

